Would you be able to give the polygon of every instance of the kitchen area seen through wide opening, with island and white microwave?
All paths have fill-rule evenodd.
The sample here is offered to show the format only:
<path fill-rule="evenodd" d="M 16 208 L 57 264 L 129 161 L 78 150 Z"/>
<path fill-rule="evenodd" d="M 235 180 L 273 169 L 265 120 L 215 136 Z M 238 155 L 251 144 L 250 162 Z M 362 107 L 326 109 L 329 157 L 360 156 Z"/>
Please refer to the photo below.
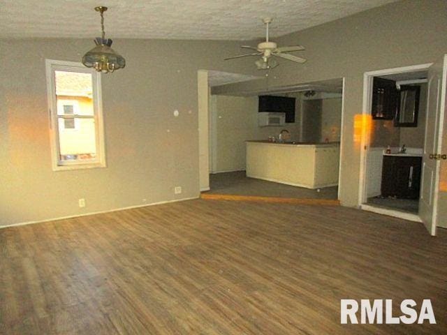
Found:
<path fill-rule="evenodd" d="M 210 194 L 338 198 L 342 80 L 210 97 Z"/>

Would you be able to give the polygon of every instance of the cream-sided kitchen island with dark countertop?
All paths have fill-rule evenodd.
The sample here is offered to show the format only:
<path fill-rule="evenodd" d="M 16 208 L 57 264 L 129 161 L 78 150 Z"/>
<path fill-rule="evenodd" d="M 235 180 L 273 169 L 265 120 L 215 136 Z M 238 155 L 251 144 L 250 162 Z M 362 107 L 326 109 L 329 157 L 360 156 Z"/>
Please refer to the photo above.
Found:
<path fill-rule="evenodd" d="M 305 188 L 338 185 L 339 142 L 246 141 L 247 177 Z"/>

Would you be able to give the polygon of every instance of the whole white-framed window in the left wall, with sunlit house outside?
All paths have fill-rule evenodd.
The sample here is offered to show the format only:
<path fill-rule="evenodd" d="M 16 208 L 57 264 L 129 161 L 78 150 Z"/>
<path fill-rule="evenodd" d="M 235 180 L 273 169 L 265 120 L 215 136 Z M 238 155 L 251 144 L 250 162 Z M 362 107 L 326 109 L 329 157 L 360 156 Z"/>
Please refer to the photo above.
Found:
<path fill-rule="evenodd" d="M 105 167 L 101 75 L 47 59 L 53 170 Z"/>

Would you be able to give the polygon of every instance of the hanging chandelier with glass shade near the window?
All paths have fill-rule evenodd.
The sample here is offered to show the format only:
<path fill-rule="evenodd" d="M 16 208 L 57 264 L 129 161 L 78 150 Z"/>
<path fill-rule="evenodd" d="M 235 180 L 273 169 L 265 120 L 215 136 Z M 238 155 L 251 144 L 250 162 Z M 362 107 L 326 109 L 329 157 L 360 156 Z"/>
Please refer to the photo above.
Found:
<path fill-rule="evenodd" d="M 110 38 L 105 39 L 104 12 L 107 10 L 107 7 L 98 6 L 95 7 L 95 10 L 101 13 L 102 36 L 95 38 L 94 42 L 96 47 L 82 57 L 82 64 L 87 66 L 87 68 L 94 68 L 102 73 L 109 73 L 119 68 L 124 68 L 126 66 L 126 59 L 110 47 L 112 45 Z"/>

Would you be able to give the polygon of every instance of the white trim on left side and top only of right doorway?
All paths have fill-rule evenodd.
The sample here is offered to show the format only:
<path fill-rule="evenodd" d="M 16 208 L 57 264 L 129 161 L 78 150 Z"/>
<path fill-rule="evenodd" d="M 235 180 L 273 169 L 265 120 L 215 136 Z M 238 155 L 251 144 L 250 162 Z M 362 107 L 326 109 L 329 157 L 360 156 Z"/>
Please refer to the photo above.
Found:
<path fill-rule="evenodd" d="M 371 110 L 372 104 L 372 77 L 379 75 L 394 75 L 396 73 L 409 73 L 418 70 L 428 70 L 432 63 L 418 64 L 413 66 L 403 66 L 401 68 L 388 68 L 384 70 L 368 71 L 363 74 L 363 101 L 362 118 L 365 118 Z M 360 142 L 360 175 L 358 183 L 358 206 L 362 207 L 367 200 L 366 194 L 366 168 L 367 168 L 367 148 L 369 148 L 369 131 L 362 124 L 362 138 Z"/>

